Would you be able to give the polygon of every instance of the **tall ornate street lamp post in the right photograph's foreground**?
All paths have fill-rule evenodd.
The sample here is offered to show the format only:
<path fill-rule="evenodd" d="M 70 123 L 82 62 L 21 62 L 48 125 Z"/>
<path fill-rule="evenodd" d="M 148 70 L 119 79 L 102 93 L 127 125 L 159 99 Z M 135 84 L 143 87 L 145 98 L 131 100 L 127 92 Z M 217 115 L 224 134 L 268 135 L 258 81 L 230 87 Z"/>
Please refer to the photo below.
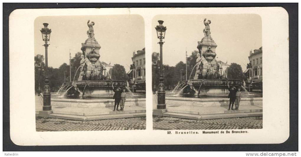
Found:
<path fill-rule="evenodd" d="M 158 39 L 160 39 L 160 42 L 158 42 L 158 44 L 160 44 L 160 78 L 159 78 L 159 85 L 158 85 L 158 103 L 157 103 L 157 109 L 166 109 L 166 104 L 165 104 L 165 86 L 164 86 L 164 78 L 163 78 L 163 55 L 162 55 L 162 46 L 163 43 L 162 40 L 165 37 L 165 32 L 166 32 L 166 27 L 163 26 L 163 22 L 162 20 L 159 20 L 159 25 L 157 25 L 155 27 L 156 31 L 157 31 L 157 37 Z"/>

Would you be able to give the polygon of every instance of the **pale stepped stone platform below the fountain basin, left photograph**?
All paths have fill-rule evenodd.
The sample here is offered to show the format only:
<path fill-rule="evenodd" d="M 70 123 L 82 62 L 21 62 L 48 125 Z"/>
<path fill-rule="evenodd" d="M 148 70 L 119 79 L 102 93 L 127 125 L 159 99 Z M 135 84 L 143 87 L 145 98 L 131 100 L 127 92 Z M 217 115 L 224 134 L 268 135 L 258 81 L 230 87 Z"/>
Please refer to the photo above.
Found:
<path fill-rule="evenodd" d="M 113 111 L 114 103 L 112 100 L 83 100 L 68 99 L 62 100 L 60 103 L 57 99 L 51 99 L 51 112 L 42 111 L 43 97 L 36 96 L 36 116 L 58 118 L 58 119 L 70 119 L 80 121 L 101 120 L 101 119 L 118 119 L 118 118 L 132 118 L 132 117 L 145 117 L 145 98 L 138 100 L 134 103 L 134 100 L 127 100 L 125 103 L 124 111 Z M 90 102 L 91 101 L 91 102 Z M 94 102 L 95 101 L 95 102 Z M 98 101 L 98 102 L 96 102 Z M 100 101 L 100 102 L 99 102 Z M 142 103 L 144 101 L 144 103 Z M 90 102 L 90 103 L 89 103 Z M 94 103 L 93 103 L 94 102 Z M 104 102 L 107 102 L 106 104 Z M 91 106 L 89 106 L 91 104 Z M 120 109 L 120 107 L 119 107 Z"/>

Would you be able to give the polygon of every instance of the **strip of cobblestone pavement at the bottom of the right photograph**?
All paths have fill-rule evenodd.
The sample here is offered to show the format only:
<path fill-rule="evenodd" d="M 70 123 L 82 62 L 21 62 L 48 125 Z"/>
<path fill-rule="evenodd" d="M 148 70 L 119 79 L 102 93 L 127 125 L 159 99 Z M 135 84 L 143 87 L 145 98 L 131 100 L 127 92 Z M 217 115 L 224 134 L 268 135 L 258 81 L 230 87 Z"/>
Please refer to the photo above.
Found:
<path fill-rule="evenodd" d="M 192 120 L 153 116 L 154 130 L 262 129 L 262 116 Z"/>

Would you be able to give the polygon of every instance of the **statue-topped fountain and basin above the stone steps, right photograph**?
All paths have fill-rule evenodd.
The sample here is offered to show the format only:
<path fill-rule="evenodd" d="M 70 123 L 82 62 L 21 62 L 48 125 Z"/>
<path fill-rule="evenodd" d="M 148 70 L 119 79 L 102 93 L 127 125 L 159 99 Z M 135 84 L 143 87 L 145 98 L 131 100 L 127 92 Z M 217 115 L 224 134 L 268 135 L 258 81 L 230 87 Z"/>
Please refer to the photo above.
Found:
<path fill-rule="evenodd" d="M 228 86 L 240 88 L 240 80 L 228 79 L 226 75 L 220 75 L 221 65 L 215 59 L 217 44 L 211 37 L 210 26 L 211 20 L 204 19 L 205 28 L 203 29 L 204 37 L 197 42 L 196 73 L 190 76 L 189 80 L 178 83 L 177 89 L 182 94 L 194 96 L 225 96 L 228 94 Z M 191 79 L 192 78 L 192 79 Z"/>

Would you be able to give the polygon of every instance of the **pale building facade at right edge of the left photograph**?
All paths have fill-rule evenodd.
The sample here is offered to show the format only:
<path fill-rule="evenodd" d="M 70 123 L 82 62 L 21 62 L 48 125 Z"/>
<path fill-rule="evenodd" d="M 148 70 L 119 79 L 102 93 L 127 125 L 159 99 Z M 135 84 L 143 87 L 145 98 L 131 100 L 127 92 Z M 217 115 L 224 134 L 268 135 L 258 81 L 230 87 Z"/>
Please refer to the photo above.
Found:
<path fill-rule="evenodd" d="M 127 73 L 129 86 L 134 92 L 145 92 L 145 48 L 133 52 L 132 62 Z"/>

